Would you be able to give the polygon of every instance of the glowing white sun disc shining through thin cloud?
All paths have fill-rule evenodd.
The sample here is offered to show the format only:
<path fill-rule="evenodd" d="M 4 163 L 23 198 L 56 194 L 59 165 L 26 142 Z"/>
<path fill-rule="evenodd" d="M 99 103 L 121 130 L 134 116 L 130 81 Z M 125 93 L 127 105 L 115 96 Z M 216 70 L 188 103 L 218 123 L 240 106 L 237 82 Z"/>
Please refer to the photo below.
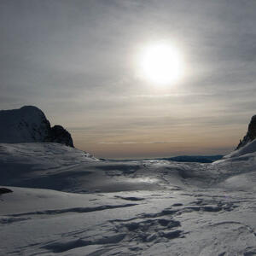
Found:
<path fill-rule="evenodd" d="M 183 57 L 171 44 L 145 47 L 139 58 L 143 79 L 154 84 L 173 84 L 183 77 Z"/>

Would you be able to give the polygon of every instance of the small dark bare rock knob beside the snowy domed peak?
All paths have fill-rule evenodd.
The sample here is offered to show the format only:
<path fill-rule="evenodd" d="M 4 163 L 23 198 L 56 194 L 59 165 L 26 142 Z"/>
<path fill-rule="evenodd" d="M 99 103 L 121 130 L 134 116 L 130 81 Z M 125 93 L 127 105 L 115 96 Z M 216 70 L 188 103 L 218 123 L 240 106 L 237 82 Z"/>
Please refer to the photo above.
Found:
<path fill-rule="evenodd" d="M 55 125 L 50 130 L 49 142 L 61 143 L 73 147 L 73 139 L 61 125 Z"/>

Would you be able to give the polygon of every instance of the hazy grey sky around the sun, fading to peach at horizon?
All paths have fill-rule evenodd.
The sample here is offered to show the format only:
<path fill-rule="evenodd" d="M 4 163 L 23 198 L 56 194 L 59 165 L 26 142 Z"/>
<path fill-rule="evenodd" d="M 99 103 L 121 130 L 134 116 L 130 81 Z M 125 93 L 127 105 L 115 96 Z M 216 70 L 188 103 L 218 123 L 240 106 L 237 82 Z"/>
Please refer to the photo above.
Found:
<path fill-rule="evenodd" d="M 256 113 L 255 0 L 1 0 L 0 109 L 35 105 L 97 157 L 223 154 Z M 178 83 L 138 76 L 164 41 Z"/>

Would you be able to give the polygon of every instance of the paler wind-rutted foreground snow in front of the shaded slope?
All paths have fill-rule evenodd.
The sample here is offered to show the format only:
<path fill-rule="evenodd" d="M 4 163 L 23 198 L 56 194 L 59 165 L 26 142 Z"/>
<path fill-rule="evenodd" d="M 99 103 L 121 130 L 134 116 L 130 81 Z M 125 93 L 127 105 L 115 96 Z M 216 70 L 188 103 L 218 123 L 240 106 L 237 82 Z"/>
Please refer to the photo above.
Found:
<path fill-rule="evenodd" d="M 10 189 L 1 201 L 1 255 L 256 253 L 256 200 L 249 192 Z M 143 201 L 127 204 L 126 196 Z"/>

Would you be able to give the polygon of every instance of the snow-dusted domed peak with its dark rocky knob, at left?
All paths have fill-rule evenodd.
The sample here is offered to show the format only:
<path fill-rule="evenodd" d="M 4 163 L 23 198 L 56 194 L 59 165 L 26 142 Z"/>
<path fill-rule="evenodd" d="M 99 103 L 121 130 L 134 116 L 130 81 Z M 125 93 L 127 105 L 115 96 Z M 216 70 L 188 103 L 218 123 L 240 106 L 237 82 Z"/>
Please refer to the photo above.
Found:
<path fill-rule="evenodd" d="M 61 125 L 50 127 L 39 108 L 25 106 L 0 111 L 0 143 L 61 143 L 73 147 L 73 139 Z"/>

